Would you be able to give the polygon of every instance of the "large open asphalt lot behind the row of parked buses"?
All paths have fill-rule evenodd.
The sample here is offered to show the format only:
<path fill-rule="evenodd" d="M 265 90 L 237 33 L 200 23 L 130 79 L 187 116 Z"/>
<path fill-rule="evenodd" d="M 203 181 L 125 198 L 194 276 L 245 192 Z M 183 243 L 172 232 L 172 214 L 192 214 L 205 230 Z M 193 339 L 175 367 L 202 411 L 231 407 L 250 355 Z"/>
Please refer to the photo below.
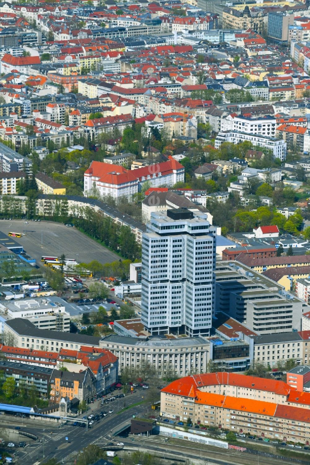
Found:
<path fill-rule="evenodd" d="M 62 253 L 67 258 L 85 263 L 92 260 L 98 260 L 100 263 L 111 263 L 120 259 L 114 252 L 110 252 L 77 229 L 68 228 L 62 223 L 29 221 L 25 225 L 24 220 L 2 219 L 0 221 L 0 231 L 5 234 L 9 231 L 26 233 L 21 238 L 13 239 L 21 244 L 31 257 L 36 259 L 37 265 L 41 264 L 42 255 L 56 257 Z"/>

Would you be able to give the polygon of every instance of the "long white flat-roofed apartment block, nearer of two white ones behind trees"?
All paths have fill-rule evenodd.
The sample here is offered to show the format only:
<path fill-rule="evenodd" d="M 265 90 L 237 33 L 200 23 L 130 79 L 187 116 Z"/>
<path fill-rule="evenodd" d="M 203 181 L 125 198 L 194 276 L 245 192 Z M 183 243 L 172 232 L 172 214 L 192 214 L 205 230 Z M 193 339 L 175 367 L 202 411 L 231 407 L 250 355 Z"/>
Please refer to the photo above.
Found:
<path fill-rule="evenodd" d="M 247 133 L 242 129 L 239 130 L 227 130 L 219 132 L 215 140 L 215 148 L 219 148 L 223 142 L 231 142 L 233 144 L 239 144 L 248 140 L 253 146 L 264 147 L 270 150 L 273 154 L 273 158 L 279 158 L 283 161 L 286 158 L 286 142 L 282 139 L 276 139 L 275 137 L 263 136 L 260 134 Z"/>

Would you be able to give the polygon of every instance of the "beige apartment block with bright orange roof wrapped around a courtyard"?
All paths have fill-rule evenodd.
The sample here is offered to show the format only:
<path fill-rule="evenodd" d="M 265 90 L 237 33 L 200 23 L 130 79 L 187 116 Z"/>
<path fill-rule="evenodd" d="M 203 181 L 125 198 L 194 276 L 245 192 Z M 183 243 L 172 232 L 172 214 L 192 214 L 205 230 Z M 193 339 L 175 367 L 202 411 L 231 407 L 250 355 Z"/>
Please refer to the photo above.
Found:
<path fill-rule="evenodd" d="M 308 444 L 310 396 L 290 391 L 282 381 L 236 373 L 189 376 L 162 389 L 161 415 L 182 421 L 189 418 L 193 424 L 239 434 Z M 306 404 L 298 403 L 299 396 Z"/>

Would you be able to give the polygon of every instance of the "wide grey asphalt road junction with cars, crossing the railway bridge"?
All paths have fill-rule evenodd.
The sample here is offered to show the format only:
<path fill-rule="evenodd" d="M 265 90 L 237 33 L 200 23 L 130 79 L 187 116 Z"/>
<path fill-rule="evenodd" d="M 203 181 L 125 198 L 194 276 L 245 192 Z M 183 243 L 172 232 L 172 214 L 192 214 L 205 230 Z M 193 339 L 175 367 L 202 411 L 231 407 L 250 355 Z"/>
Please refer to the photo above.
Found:
<path fill-rule="evenodd" d="M 123 423 L 130 423 L 130 419 L 133 415 L 151 412 L 151 405 L 147 403 L 135 405 L 122 412 L 121 409 L 124 405 L 124 401 L 126 402 L 127 408 L 130 405 L 142 401 L 142 396 L 144 395 L 145 392 L 143 390 L 137 390 L 133 394 L 128 394 L 125 398 L 116 399 L 114 402 L 110 402 L 102 407 L 100 406 L 100 402 L 90 404 L 90 410 L 86 413 L 87 415 L 90 413 L 98 413 L 101 410 L 108 412 L 110 409 L 113 409 L 114 412 L 100 421 L 95 422 L 94 425 L 88 429 L 88 432 L 86 432 L 85 428 L 69 424 L 62 425 L 61 428 L 58 427 L 56 429 L 46 426 L 43 441 L 42 426 L 31 426 L 31 422 L 29 422 L 27 427 L 24 426 L 22 430 L 38 434 L 42 442 L 34 442 L 32 445 L 28 445 L 25 448 L 15 449 L 16 463 L 19 465 L 34 465 L 37 461 L 43 461 L 43 455 L 45 456 L 45 460 L 55 457 L 60 463 L 62 459 L 65 464 L 73 463 L 76 454 L 89 444 L 99 443 L 100 445 L 104 445 L 108 442 L 117 444 L 121 439 L 112 438 L 111 430 L 113 432 L 118 431 Z M 121 412 L 119 414 L 117 413 L 118 409 Z M 16 420 L 17 422 L 19 421 L 18 419 Z M 53 431 L 53 434 L 51 434 L 51 431 Z M 66 437 L 69 439 L 69 442 L 66 441 Z"/>

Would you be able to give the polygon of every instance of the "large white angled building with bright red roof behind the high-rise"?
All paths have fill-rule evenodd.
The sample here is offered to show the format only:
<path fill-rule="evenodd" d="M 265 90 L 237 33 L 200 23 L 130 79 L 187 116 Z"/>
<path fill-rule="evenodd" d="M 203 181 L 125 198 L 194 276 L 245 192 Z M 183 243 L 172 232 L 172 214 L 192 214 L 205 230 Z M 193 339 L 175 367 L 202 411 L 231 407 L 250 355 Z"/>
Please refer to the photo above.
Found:
<path fill-rule="evenodd" d="M 84 195 L 95 188 L 103 197 L 131 199 L 133 194 L 141 191 L 145 182 L 151 187 L 172 187 L 183 181 L 184 166 L 174 159 L 135 170 L 93 161 L 84 173 Z"/>

